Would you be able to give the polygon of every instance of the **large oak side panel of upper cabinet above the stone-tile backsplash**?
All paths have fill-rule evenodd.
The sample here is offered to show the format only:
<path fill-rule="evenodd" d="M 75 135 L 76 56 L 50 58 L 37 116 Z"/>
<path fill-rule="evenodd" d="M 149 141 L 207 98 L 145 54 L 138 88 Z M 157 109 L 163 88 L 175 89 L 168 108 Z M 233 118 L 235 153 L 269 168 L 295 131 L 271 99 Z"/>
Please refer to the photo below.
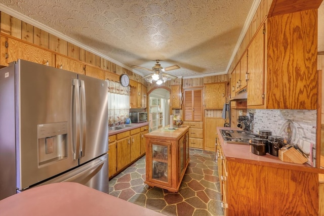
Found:
<path fill-rule="evenodd" d="M 317 10 L 271 17 L 267 31 L 267 109 L 316 109 Z"/>

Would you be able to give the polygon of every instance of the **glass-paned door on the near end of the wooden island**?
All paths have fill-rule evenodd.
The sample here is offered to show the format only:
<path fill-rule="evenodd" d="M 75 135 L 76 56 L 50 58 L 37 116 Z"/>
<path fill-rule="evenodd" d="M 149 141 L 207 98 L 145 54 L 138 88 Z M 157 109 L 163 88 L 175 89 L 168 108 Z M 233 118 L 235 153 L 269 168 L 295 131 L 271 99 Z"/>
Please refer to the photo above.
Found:
<path fill-rule="evenodd" d="M 171 175 L 169 167 L 170 164 L 170 147 L 171 143 L 152 143 L 152 168 L 151 179 L 159 182 L 169 184 L 171 182 Z"/>

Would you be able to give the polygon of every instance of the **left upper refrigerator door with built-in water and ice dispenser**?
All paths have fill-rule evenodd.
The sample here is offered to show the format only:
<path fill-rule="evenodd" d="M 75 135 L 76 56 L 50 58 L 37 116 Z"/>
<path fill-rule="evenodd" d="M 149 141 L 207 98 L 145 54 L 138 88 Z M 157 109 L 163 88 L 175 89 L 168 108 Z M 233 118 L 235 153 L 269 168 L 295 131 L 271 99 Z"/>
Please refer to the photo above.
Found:
<path fill-rule="evenodd" d="M 16 184 L 24 189 L 78 165 L 71 115 L 77 74 L 18 60 L 15 76 Z"/>

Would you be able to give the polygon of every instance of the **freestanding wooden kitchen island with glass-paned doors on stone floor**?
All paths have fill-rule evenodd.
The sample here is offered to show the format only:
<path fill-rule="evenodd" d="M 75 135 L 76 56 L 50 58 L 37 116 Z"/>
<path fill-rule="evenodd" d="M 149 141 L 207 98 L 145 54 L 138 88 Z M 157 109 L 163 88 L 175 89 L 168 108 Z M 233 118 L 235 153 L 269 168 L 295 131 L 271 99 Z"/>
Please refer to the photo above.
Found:
<path fill-rule="evenodd" d="M 145 134 L 146 181 L 150 187 L 178 192 L 189 164 L 189 127 L 162 127 Z"/>

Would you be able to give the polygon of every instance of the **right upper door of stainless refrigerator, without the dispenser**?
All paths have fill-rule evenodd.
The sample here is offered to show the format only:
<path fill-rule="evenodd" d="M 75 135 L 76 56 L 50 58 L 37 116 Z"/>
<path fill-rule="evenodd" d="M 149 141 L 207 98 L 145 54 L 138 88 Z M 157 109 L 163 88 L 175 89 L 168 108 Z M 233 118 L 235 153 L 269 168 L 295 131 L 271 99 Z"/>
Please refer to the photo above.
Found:
<path fill-rule="evenodd" d="M 80 80 L 80 164 L 108 152 L 107 82 L 78 75 Z"/>

